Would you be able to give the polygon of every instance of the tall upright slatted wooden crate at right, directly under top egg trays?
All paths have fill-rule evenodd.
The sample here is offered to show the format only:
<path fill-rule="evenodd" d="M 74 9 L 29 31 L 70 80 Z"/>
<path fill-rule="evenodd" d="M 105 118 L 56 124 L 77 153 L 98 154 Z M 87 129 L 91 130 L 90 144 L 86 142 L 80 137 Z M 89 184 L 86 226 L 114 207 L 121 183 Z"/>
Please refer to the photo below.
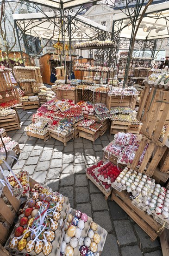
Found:
<path fill-rule="evenodd" d="M 140 132 L 156 144 L 159 142 L 160 146 L 165 145 L 169 132 L 169 91 L 151 89 L 142 122 Z M 164 125 L 168 125 L 168 128 L 161 142 L 159 138 Z"/>

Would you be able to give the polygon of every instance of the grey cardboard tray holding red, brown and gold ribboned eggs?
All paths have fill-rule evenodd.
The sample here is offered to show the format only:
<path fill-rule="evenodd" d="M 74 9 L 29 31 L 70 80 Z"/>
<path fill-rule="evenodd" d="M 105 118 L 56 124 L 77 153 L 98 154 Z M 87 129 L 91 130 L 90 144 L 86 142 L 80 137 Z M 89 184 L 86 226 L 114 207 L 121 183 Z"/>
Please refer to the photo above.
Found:
<path fill-rule="evenodd" d="M 28 208 L 28 205 L 25 206 L 24 210 L 27 209 L 27 208 Z M 51 243 L 52 243 L 52 251 L 51 251 L 51 253 L 49 254 L 49 255 L 51 255 L 51 256 L 53 256 L 53 255 L 59 255 L 59 254 L 58 254 L 58 248 L 60 247 L 61 237 L 62 237 L 62 234 L 63 234 L 63 228 L 64 228 L 65 223 L 66 223 L 67 218 L 68 218 L 69 208 L 70 208 L 69 200 L 68 200 L 67 197 L 65 197 L 65 202 L 63 203 L 63 210 L 60 212 L 61 218 L 60 218 L 60 220 L 58 221 L 59 227 L 58 227 L 58 229 L 56 229 L 56 231 L 55 231 L 55 240 L 54 240 L 53 242 L 51 242 Z M 24 216 L 25 216 L 24 214 L 22 214 L 22 215 L 19 216 L 18 222 L 17 222 L 17 224 L 15 225 L 15 227 L 14 227 L 14 229 L 13 229 L 13 232 L 12 232 L 11 236 L 9 237 L 9 239 L 7 240 L 6 245 L 5 245 L 5 248 L 6 248 L 8 251 L 10 251 L 12 254 L 14 254 L 14 252 L 15 252 L 15 253 L 16 253 L 15 255 L 17 255 L 17 256 L 19 255 L 19 253 L 21 253 L 22 256 L 26 256 L 27 251 L 26 251 L 25 249 L 23 249 L 21 252 L 19 252 L 18 249 L 17 249 L 17 247 L 16 247 L 15 249 L 11 250 L 11 249 L 9 248 L 9 243 L 10 243 L 11 239 L 13 239 L 13 237 L 15 237 L 15 234 L 14 234 L 15 232 L 14 232 L 14 231 L 15 231 L 15 229 L 16 229 L 17 227 L 20 226 L 20 224 L 19 224 L 19 223 L 20 223 L 20 219 L 21 219 L 22 217 L 24 217 Z M 28 218 L 30 219 L 31 216 L 29 216 Z M 63 219 L 62 225 L 60 225 L 61 219 Z M 50 231 L 50 229 L 47 229 L 47 231 Z M 30 237 L 27 238 L 27 241 L 29 241 L 29 240 L 30 240 Z M 36 255 L 36 253 L 34 252 L 34 250 L 32 250 L 32 251 L 29 253 L 29 255 L 34 256 L 34 255 Z M 42 251 L 41 253 L 39 253 L 38 255 L 39 255 L 39 256 L 44 256 L 43 251 Z"/>

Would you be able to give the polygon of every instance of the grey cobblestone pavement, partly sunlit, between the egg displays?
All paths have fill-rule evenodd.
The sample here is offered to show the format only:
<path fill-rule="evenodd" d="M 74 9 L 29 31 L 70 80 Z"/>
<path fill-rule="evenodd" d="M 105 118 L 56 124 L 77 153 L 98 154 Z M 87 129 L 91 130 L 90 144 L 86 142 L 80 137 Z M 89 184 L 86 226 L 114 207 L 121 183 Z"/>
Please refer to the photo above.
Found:
<path fill-rule="evenodd" d="M 29 171 L 33 179 L 68 196 L 72 208 L 87 213 L 105 228 L 108 236 L 102 256 L 162 256 L 159 240 L 151 242 L 116 202 L 110 198 L 105 201 L 100 190 L 86 179 L 84 169 L 102 159 L 102 148 L 112 141 L 113 136 L 107 133 L 94 145 L 78 138 L 69 141 L 66 147 L 55 139 L 44 142 L 30 138 L 25 135 L 24 128 L 31 124 L 34 112 L 36 110 L 19 109 L 22 127 L 8 132 L 22 149 L 19 165 L 14 164 L 14 171 L 21 168 Z"/>

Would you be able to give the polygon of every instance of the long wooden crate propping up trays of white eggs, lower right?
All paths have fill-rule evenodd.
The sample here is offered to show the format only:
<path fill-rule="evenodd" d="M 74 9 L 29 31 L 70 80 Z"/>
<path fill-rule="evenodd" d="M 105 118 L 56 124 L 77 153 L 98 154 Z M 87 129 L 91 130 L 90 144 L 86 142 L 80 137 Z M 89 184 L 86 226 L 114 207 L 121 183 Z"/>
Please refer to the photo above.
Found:
<path fill-rule="evenodd" d="M 160 236 L 164 229 L 161 224 L 156 222 L 152 216 L 138 209 L 131 203 L 130 194 L 126 191 L 119 192 L 113 189 L 112 201 L 115 201 L 125 212 L 150 236 L 150 240 L 154 241 Z"/>

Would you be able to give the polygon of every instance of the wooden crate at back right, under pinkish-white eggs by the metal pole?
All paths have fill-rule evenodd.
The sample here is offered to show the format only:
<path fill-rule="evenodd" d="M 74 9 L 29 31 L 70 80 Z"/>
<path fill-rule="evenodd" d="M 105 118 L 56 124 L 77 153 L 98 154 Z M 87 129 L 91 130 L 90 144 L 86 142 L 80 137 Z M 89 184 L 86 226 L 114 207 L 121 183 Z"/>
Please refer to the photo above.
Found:
<path fill-rule="evenodd" d="M 111 107 L 129 107 L 135 109 L 137 96 L 115 96 L 109 95 L 107 99 L 107 108 Z"/>

